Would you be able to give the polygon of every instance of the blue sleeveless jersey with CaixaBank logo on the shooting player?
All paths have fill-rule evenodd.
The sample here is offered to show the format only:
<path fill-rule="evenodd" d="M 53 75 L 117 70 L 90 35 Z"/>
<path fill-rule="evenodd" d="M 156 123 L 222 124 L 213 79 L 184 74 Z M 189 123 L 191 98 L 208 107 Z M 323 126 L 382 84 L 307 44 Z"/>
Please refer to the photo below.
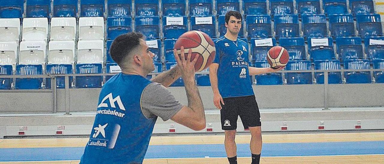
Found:
<path fill-rule="evenodd" d="M 157 119 L 141 111 L 141 94 L 150 83 L 122 73 L 106 82 L 81 164 L 142 163 Z"/>

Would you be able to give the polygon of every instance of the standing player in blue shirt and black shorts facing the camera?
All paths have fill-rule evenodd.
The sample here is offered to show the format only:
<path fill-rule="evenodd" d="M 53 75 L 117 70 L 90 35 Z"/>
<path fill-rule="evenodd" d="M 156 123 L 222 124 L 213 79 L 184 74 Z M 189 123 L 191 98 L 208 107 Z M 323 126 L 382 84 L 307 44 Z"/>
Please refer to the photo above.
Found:
<path fill-rule="evenodd" d="M 216 57 L 209 67 L 214 93 L 214 104 L 220 109 L 222 130 L 225 131 L 225 151 L 230 164 L 237 164 L 235 134 L 240 116 L 244 129 L 249 128 L 252 138 L 250 149 L 252 164 L 260 162 L 262 149 L 260 112 L 251 86 L 250 75 L 275 72 L 280 69 L 248 66 L 248 43 L 237 38 L 242 15 L 229 11 L 225 15 L 227 33 L 215 42 Z"/>

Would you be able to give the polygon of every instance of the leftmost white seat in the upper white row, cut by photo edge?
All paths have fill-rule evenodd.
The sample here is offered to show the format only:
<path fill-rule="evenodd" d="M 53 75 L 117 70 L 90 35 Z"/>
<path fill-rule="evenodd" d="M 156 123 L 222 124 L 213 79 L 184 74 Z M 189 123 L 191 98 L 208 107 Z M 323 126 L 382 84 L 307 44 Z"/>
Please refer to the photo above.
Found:
<path fill-rule="evenodd" d="M 19 44 L 20 19 L 0 18 L 0 42 L 16 42 Z"/>

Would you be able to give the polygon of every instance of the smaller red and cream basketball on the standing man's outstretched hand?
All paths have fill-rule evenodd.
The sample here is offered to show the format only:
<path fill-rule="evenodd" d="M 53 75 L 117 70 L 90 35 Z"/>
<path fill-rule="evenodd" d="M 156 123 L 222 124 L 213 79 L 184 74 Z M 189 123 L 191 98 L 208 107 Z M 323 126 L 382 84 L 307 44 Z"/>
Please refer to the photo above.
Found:
<path fill-rule="evenodd" d="M 273 69 L 284 67 L 289 61 L 288 51 L 280 46 L 272 47 L 267 54 L 266 60 Z"/>

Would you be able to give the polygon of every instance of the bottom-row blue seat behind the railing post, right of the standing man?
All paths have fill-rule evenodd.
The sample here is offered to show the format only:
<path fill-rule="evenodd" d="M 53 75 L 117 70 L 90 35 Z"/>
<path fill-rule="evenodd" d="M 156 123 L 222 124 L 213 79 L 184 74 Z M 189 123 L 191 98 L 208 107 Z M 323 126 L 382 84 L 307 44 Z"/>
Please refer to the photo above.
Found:
<path fill-rule="evenodd" d="M 314 61 L 315 70 L 339 70 L 339 60 L 318 60 Z M 315 73 L 316 84 L 324 84 L 324 73 Z M 341 84 L 341 72 L 328 72 L 328 84 Z"/>

